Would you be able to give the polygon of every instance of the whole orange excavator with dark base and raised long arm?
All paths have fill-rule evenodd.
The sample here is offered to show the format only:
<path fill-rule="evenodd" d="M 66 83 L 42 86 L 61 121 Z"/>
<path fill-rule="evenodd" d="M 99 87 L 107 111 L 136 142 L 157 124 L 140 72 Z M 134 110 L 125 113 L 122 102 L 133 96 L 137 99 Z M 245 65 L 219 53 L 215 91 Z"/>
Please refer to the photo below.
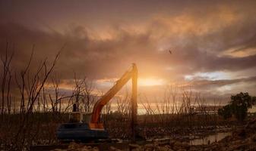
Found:
<path fill-rule="evenodd" d="M 132 140 L 136 137 L 137 125 L 137 66 L 132 64 L 131 69 L 125 72 L 122 77 L 115 82 L 115 85 L 104 94 L 100 100 L 97 100 L 93 106 L 93 112 L 84 114 L 78 112 L 78 104 L 74 103 L 73 112 L 69 116 L 68 123 L 58 127 L 57 137 L 59 140 L 99 140 L 109 137 L 108 132 L 104 129 L 103 123 L 100 121 L 100 113 L 103 106 L 117 94 L 120 89 L 132 79 L 131 94 L 131 132 Z"/>

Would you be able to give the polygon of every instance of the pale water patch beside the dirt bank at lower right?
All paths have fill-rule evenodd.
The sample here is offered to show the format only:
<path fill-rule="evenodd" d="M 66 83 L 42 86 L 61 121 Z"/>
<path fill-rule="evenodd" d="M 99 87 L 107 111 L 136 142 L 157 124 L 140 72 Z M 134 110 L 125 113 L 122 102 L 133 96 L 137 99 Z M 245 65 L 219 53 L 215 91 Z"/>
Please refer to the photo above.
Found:
<path fill-rule="evenodd" d="M 231 134 L 232 134 L 231 132 L 212 134 L 207 137 L 191 140 L 189 143 L 191 145 L 206 145 L 209 143 L 213 143 L 213 142 L 222 140 L 224 137 L 230 136 Z"/>

